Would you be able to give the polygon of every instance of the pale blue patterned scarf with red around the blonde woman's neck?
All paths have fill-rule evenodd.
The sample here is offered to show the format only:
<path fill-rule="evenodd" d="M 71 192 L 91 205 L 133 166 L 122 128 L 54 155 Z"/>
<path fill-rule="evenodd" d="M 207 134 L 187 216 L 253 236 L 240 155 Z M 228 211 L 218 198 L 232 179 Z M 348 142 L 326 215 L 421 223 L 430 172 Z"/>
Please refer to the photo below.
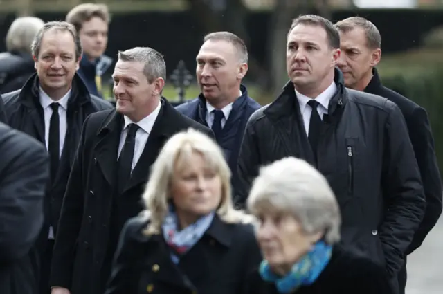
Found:
<path fill-rule="evenodd" d="M 171 258 L 175 264 L 179 263 L 181 255 L 186 254 L 192 246 L 197 244 L 210 224 L 213 223 L 214 216 L 215 212 L 211 212 L 179 231 L 179 219 L 172 205 L 170 206 L 161 228 L 166 243 L 172 248 Z"/>

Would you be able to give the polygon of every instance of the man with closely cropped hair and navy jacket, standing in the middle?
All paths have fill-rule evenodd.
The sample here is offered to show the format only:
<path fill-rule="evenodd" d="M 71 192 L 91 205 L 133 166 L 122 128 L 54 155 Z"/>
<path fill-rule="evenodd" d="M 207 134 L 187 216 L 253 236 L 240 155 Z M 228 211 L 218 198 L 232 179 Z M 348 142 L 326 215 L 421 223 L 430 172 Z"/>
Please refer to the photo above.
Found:
<path fill-rule="evenodd" d="M 237 35 L 215 32 L 204 37 L 196 59 L 201 93 L 198 98 L 179 105 L 177 110 L 213 129 L 235 186 L 244 128 L 248 118 L 260 108 L 242 84 L 248 71 L 248 50 Z"/>

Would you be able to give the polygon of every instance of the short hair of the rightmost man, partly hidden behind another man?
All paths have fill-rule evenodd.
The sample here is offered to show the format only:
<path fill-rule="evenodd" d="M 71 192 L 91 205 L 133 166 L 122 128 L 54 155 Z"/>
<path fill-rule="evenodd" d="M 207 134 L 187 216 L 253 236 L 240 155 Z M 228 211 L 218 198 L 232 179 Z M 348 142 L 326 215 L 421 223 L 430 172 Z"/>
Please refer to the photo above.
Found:
<path fill-rule="evenodd" d="M 363 28 L 366 34 L 366 45 L 368 48 L 381 48 L 381 35 L 379 29 L 364 17 L 348 17 L 347 19 L 338 21 L 334 26 L 342 33 L 348 33 L 356 27 Z"/>

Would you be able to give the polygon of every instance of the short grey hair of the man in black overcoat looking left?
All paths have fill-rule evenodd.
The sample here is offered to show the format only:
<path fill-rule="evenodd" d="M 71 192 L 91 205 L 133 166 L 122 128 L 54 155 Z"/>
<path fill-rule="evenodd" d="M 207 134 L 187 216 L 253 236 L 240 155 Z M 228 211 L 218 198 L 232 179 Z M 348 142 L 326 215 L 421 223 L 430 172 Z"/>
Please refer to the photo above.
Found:
<path fill-rule="evenodd" d="M 135 47 L 125 51 L 118 51 L 118 60 L 124 62 L 141 62 L 145 64 L 143 73 L 150 84 L 161 77 L 166 80 L 166 64 L 163 55 L 150 47 Z"/>

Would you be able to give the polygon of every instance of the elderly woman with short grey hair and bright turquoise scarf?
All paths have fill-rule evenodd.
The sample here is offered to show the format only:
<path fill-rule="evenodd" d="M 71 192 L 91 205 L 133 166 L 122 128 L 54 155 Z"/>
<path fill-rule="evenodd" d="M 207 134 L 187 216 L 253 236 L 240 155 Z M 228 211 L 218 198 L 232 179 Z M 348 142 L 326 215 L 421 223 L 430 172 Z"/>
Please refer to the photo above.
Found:
<path fill-rule="evenodd" d="M 341 216 L 327 180 L 304 160 L 262 167 L 248 197 L 264 261 L 251 294 L 390 294 L 380 266 L 337 244 Z"/>

